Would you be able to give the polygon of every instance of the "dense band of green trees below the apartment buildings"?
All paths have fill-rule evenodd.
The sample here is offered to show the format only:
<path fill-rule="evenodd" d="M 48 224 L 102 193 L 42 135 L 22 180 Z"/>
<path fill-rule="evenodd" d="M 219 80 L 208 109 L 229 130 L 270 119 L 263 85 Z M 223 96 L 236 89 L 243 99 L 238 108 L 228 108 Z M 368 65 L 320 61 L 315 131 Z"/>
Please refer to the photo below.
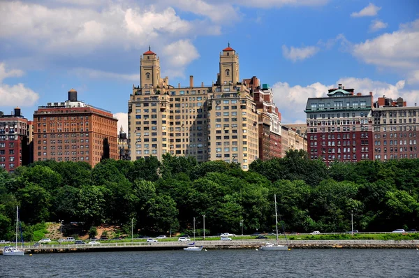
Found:
<path fill-rule="evenodd" d="M 65 219 L 117 224 L 131 233 L 168 231 L 244 233 L 274 229 L 274 194 L 286 231 L 392 231 L 417 228 L 419 160 L 333 163 L 290 151 L 284 159 L 254 161 L 249 171 L 237 163 L 197 163 L 166 154 L 138 161 L 38 161 L 0 171 L 0 239 L 13 238 L 15 207 L 24 230 Z M 128 228 L 129 227 L 129 228 Z M 32 230 L 31 230 L 32 229 Z M 28 232 L 27 232 L 28 233 Z M 30 235 L 29 235 L 30 237 Z"/>

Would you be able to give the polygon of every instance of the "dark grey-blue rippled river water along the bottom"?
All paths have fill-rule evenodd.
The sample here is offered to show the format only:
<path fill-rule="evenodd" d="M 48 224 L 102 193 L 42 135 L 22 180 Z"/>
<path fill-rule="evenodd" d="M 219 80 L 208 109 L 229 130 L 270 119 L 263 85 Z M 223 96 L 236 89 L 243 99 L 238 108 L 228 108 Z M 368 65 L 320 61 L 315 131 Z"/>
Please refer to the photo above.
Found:
<path fill-rule="evenodd" d="M 0 277 L 418 277 L 416 249 L 114 251 L 0 256 Z"/>

